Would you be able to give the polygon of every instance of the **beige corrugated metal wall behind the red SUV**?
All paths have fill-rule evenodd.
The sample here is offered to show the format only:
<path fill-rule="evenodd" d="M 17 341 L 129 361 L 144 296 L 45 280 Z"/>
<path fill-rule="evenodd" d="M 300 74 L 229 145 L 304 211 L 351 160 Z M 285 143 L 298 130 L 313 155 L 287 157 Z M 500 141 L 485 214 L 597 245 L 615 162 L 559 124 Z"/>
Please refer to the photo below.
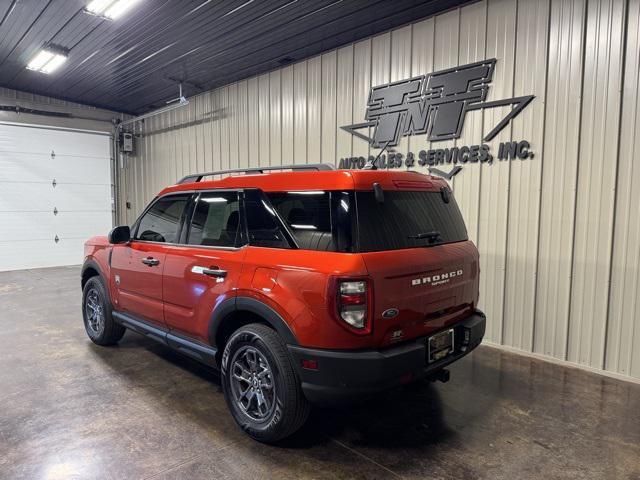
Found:
<path fill-rule="evenodd" d="M 190 172 L 375 153 L 339 129 L 364 120 L 372 85 L 496 57 L 488 100 L 536 98 L 492 150 L 527 139 L 535 157 L 453 181 L 481 252 L 487 341 L 640 378 L 639 31 L 640 0 L 488 0 L 204 93 L 139 130 L 123 221 Z M 505 113 L 469 114 L 438 148 L 480 143 Z"/>

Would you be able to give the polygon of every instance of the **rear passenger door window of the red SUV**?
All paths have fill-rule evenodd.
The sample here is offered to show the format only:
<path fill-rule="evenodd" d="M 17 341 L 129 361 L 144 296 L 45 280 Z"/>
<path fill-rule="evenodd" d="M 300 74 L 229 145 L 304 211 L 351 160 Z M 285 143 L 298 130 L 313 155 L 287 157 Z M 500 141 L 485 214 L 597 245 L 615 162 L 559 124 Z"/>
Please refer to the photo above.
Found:
<path fill-rule="evenodd" d="M 189 228 L 189 245 L 240 246 L 237 192 L 205 192 L 198 198 Z"/>

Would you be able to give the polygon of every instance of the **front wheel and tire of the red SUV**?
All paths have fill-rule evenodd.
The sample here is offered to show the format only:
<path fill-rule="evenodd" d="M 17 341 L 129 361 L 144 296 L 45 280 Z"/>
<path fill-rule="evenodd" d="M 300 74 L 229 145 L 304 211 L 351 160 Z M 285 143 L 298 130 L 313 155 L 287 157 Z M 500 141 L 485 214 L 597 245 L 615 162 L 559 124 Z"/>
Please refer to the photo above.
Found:
<path fill-rule="evenodd" d="M 111 300 L 100 276 L 91 277 L 82 289 L 84 329 L 97 345 L 114 345 L 124 335 L 125 328 L 111 316 Z"/>

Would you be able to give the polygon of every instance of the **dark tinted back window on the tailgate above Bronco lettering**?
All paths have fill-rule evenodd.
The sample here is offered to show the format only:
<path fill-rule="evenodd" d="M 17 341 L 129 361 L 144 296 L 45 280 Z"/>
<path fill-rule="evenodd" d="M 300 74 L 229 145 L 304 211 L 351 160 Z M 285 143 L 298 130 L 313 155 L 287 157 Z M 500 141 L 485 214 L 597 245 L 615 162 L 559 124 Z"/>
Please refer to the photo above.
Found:
<path fill-rule="evenodd" d="M 467 240 L 467 229 L 453 196 L 440 192 L 356 192 L 359 251 L 428 247 Z"/>

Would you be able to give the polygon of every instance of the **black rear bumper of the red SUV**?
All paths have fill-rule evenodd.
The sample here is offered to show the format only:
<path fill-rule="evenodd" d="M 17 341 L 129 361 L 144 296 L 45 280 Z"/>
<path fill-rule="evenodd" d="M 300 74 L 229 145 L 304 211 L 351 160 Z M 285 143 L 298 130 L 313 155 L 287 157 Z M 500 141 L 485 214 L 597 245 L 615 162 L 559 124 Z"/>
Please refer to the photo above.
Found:
<path fill-rule="evenodd" d="M 479 310 L 448 326 L 454 329 L 454 352 L 428 365 L 427 337 L 384 350 L 352 352 L 288 347 L 307 399 L 312 403 L 335 404 L 428 377 L 480 345 L 485 326 L 486 317 Z M 303 359 L 316 360 L 318 370 L 302 368 Z"/>

